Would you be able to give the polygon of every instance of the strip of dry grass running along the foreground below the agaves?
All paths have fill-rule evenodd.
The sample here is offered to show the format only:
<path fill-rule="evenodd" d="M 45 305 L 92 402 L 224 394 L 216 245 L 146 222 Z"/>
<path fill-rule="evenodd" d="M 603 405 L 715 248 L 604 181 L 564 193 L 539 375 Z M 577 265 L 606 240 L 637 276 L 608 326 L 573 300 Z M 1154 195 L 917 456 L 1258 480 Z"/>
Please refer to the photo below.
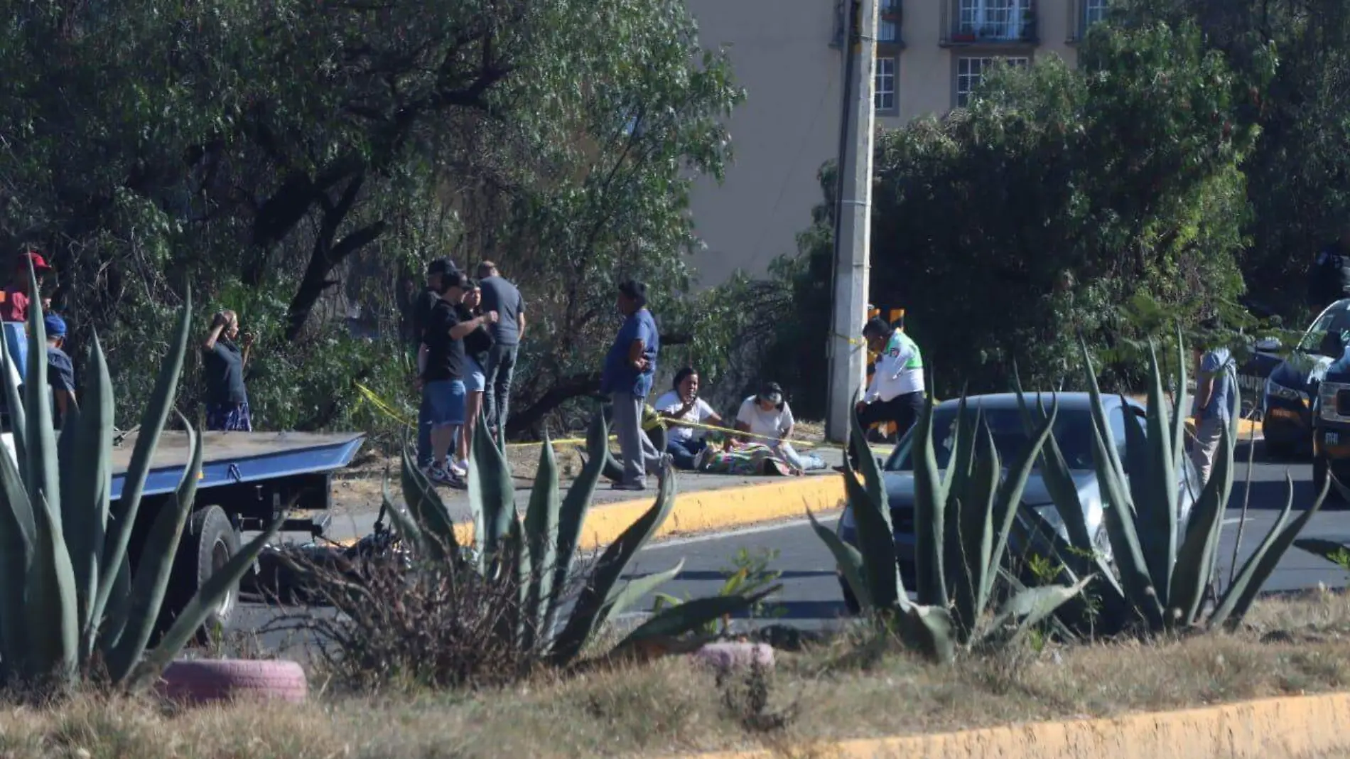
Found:
<path fill-rule="evenodd" d="M 1350 683 L 1346 596 L 1268 601 L 1251 623 L 1235 635 L 1023 650 L 954 669 L 838 639 L 780 655 L 767 679 L 740 675 L 725 683 L 667 659 L 475 694 L 329 696 L 300 708 L 236 704 L 174 713 L 148 701 L 84 698 L 0 712 L 0 756 L 663 756 L 1111 716 Z"/>

